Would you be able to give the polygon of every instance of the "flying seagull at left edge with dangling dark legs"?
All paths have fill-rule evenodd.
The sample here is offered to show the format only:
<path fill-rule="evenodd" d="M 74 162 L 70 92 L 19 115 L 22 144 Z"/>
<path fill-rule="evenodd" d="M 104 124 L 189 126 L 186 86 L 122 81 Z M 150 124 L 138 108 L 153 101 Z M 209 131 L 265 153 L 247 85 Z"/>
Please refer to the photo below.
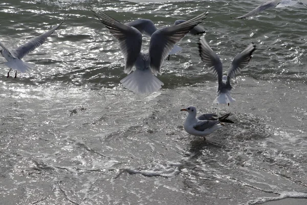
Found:
<path fill-rule="evenodd" d="M 67 15 L 68 16 L 68 15 Z M 53 27 L 46 33 L 40 34 L 39 36 L 33 37 L 24 45 L 19 46 L 16 49 L 8 49 L 5 47 L 3 43 L 0 42 L 0 46 L 2 49 L 0 53 L 7 60 L 4 64 L 10 68 L 7 77 L 9 77 L 9 73 L 12 69 L 16 70 L 15 78 L 17 77 L 17 71 L 21 73 L 28 72 L 35 68 L 35 65 L 32 63 L 27 63 L 21 58 L 25 57 L 29 53 L 31 53 L 34 49 L 42 45 L 45 40 L 55 31 L 57 30 L 66 20 L 67 16 L 64 20 L 57 26 Z"/>

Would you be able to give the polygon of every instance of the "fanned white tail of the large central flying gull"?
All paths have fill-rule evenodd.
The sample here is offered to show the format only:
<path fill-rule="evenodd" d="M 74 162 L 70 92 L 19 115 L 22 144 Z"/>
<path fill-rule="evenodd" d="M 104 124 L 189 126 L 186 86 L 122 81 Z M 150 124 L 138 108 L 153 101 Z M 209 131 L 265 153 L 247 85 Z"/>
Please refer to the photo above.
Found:
<path fill-rule="evenodd" d="M 136 69 L 123 78 L 120 83 L 125 88 L 141 94 L 156 92 L 164 85 L 162 81 L 152 74 L 150 69 Z"/>

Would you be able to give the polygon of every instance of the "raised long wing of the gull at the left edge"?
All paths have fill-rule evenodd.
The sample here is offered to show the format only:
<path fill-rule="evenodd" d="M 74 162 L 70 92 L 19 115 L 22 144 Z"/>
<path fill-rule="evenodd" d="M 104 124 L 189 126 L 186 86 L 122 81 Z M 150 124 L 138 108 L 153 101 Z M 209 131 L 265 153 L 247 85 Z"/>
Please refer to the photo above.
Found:
<path fill-rule="evenodd" d="M 65 22 L 67 16 L 64 18 L 64 20 L 59 25 L 53 27 L 46 33 L 43 33 L 39 36 L 31 38 L 28 43 L 21 45 L 17 49 L 15 49 L 13 52 L 15 53 L 17 58 L 19 59 L 23 58 L 24 56 L 31 53 L 34 49 L 42 45 L 45 42 L 45 40 Z"/>

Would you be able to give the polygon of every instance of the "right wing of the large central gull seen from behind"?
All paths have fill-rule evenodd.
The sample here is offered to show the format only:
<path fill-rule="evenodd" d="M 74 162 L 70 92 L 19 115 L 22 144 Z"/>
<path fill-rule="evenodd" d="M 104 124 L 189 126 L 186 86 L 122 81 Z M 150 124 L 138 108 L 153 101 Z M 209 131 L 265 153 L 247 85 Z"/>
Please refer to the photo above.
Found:
<path fill-rule="evenodd" d="M 150 69 L 155 75 L 160 73 L 160 68 L 168 53 L 194 26 L 201 23 L 206 18 L 207 13 L 204 12 L 185 22 L 164 27 L 157 30 L 151 35 L 149 44 Z"/>

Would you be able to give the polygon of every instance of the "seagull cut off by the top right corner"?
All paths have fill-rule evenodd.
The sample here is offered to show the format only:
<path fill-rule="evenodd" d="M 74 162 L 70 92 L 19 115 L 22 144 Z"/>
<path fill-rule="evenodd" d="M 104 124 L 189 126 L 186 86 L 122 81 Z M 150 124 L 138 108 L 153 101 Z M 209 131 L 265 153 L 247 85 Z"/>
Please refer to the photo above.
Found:
<path fill-rule="evenodd" d="M 299 1 L 292 1 L 292 0 L 271 0 L 269 2 L 265 2 L 262 3 L 260 6 L 258 6 L 257 8 L 255 8 L 254 10 L 248 12 L 247 14 L 243 15 L 243 16 L 239 16 L 236 18 L 246 18 L 246 17 L 250 17 L 253 15 L 256 15 L 258 13 L 260 13 L 261 11 L 264 11 L 266 9 L 269 8 L 283 8 L 283 7 L 290 7 L 290 6 L 294 6 L 295 4 L 301 4 L 304 7 L 305 6 L 303 3 L 299 2 Z"/>

